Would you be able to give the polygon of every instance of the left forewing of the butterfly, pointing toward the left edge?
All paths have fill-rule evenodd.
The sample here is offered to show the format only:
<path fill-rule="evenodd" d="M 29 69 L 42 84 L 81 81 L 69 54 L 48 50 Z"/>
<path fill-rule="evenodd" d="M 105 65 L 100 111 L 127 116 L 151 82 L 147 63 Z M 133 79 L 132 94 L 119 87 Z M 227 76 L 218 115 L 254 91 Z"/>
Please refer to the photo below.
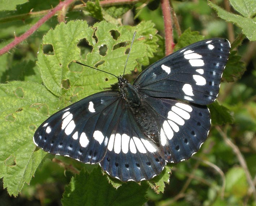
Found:
<path fill-rule="evenodd" d="M 90 95 L 45 120 L 34 134 L 34 143 L 52 154 L 100 162 L 122 112 L 120 101 L 118 91 Z"/>

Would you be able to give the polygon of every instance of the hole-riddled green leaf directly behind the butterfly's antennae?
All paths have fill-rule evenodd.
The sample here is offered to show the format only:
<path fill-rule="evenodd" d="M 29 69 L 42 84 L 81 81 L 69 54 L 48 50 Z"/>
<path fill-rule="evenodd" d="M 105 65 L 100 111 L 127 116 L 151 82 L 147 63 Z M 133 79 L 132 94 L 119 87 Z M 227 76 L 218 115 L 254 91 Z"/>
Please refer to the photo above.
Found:
<path fill-rule="evenodd" d="M 102 21 L 94 24 L 92 28 L 88 27 L 85 21 L 61 23 L 55 30 L 50 30 L 43 39 L 43 45 L 52 46 L 53 54 L 44 54 L 43 48 L 39 50 L 37 64 L 44 85 L 53 94 L 64 99 L 63 106 L 67 104 L 65 101 L 71 101 L 70 97 L 81 99 L 109 88 L 110 84 L 117 82 L 116 77 L 77 64 L 71 64 L 71 67 L 69 64 L 78 60 L 115 75 L 122 74 L 127 49 L 130 48 L 129 44 L 136 30 L 126 72 L 134 70 L 135 67 L 140 70 L 141 64 L 147 65 L 148 58 L 152 57 L 157 49 L 158 39 L 153 26 L 151 22 L 142 22 L 136 27 L 117 27 L 116 24 Z M 77 44 L 82 39 L 86 39 L 92 46 L 92 51 L 81 57 Z M 105 52 L 102 53 L 101 49 L 105 49 Z M 66 82 L 69 82 L 68 88 L 65 86 Z"/>

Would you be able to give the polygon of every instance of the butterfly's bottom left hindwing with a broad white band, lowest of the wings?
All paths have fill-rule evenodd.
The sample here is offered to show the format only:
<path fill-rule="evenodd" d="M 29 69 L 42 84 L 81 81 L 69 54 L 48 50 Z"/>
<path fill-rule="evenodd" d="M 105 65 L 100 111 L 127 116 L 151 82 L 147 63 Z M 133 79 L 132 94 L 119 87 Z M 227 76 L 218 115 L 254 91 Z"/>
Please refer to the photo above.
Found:
<path fill-rule="evenodd" d="M 145 138 L 130 110 L 123 109 L 100 162 L 102 169 L 122 182 L 140 182 L 161 173 L 165 164 L 157 145 Z"/>

